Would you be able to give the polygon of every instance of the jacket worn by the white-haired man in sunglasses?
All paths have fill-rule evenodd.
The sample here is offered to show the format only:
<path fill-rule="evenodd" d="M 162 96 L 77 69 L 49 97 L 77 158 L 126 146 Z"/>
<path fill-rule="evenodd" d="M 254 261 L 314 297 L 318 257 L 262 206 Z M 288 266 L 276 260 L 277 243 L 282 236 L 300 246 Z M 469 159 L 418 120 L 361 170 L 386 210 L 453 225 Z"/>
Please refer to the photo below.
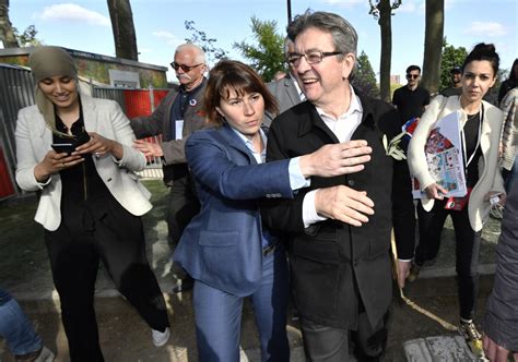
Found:
<path fill-rule="evenodd" d="M 170 108 L 178 95 L 177 89 L 170 90 L 154 112 L 149 117 L 139 117 L 131 120 L 131 128 L 137 138 L 150 137 L 162 134 L 162 150 L 164 153 L 165 165 L 164 182 L 168 185 L 172 181 L 187 176 L 187 165 L 185 155 L 185 144 L 187 137 L 193 132 L 201 130 L 205 124 L 205 117 L 202 112 L 203 94 L 207 80 L 203 80 L 200 89 L 196 95 L 196 105 L 189 106 L 184 116 L 184 129 L 181 140 L 170 140 Z"/>

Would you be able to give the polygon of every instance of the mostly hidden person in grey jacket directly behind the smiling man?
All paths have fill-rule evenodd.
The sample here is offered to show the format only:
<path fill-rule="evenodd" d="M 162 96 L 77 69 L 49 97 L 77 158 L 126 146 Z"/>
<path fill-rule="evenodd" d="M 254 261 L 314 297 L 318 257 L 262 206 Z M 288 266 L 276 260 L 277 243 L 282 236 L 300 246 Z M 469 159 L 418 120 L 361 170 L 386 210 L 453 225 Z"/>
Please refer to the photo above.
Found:
<path fill-rule="evenodd" d="M 293 52 L 294 47 L 295 45 L 293 44 L 293 40 L 286 38 L 286 40 L 284 41 L 284 56 L 287 57 L 289 53 Z M 289 74 L 286 74 L 286 76 L 268 83 L 267 87 L 268 90 L 270 90 L 273 97 L 275 97 L 276 99 L 276 102 L 279 105 L 279 113 L 284 112 L 285 110 L 292 108 L 295 105 L 298 105 L 301 101 L 306 99 L 306 96 L 304 96 L 304 93 L 302 92 L 291 67 L 290 72 Z M 275 114 L 266 112 L 264 122 L 262 124 L 266 126 L 270 126 L 274 118 Z"/>

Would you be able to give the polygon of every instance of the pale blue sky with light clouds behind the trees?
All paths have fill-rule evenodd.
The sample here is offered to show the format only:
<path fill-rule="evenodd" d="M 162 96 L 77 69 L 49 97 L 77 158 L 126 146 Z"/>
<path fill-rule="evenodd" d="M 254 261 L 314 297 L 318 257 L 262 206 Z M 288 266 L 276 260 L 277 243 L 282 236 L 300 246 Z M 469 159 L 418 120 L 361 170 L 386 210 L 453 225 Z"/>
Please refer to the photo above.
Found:
<path fill-rule="evenodd" d="M 328 11 L 345 17 L 358 33 L 358 55 L 366 52 L 375 73 L 379 72 L 380 32 L 368 14 L 368 0 L 291 0 L 292 16 L 307 9 Z M 285 35 L 285 0 L 131 0 L 137 32 L 139 61 L 168 67 L 175 48 L 190 37 L 185 21 L 217 39 L 215 46 L 243 60 L 234 43 L 254 44 L 250 17 L 276 21 L 278 33 Z M 23 31 L 34 24 L 45 45 L 115 57 L 114 38 L 106 0 L 70 2 L 57 0 L 15 0 L 10 2 L 13 26 Z M 475 44 L 493 43 L 501 56 L 501 68 L 510 69 L 518 57 L 518 1 L 445 0 L 447 41 L 469 51 Z M 391 74 L 404 80 L 410 64 L 423 64 L 425 1 L 402 0 L 392 16 Z"/>

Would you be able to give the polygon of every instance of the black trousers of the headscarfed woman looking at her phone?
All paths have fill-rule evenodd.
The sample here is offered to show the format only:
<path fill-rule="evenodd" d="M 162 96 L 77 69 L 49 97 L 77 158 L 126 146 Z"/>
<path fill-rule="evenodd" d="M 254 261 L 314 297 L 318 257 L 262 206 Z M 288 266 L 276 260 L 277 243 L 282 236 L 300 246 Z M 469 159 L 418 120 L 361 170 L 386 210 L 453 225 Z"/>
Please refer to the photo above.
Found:
<path fill-rule="evenodd" d="M 169 326 L 163 294 L 146 260 L 141 218 L 114 198 L 96 206 L 67 205 L 60 227 L 45 231 L 72 362 L 104 361 L 94 311 L 99 261 L 151 328 L 163 331 Z"/>

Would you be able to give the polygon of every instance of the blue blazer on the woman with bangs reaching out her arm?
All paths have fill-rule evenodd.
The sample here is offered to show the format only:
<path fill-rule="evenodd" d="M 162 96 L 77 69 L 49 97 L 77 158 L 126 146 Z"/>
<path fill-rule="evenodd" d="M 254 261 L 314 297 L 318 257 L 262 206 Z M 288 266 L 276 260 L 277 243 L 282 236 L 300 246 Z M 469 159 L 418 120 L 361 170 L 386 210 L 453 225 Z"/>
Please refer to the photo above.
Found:
<path fill-rule="evenodd" d="M 259 198 L 293 197 L 290 160 L 258 165 L 228 125 L 195 132 L 186 156 L 201 210 L 184 230 L 174 260 L 197 280 L 249 295 L 262 277 Z"/>

